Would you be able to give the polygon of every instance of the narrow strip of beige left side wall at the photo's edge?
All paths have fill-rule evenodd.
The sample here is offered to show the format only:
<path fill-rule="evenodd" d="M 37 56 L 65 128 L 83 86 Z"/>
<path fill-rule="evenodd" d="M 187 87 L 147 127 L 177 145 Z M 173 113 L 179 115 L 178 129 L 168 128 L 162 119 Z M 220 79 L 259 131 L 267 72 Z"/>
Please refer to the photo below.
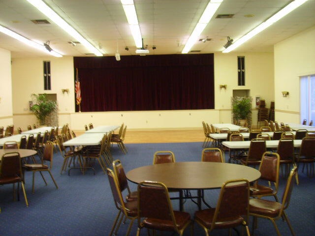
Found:
<path fill-rule="evenodd" d="M 13 124 L 11 53 L 0 48 L 0 126 Z"/>

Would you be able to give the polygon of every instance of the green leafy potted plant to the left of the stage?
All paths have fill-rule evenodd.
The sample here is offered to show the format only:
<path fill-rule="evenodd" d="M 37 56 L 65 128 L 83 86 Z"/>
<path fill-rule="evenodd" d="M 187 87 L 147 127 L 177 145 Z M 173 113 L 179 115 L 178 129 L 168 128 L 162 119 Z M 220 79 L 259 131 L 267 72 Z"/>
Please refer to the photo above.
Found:
<path fill-rule="evenodd" d="M 47 94 L 32 94 L 33 105 L 30 110 L 37 118 L 39 125 L 45 125 L 46 118 L 57 108 L 57 102 L 49 100 Z"/>

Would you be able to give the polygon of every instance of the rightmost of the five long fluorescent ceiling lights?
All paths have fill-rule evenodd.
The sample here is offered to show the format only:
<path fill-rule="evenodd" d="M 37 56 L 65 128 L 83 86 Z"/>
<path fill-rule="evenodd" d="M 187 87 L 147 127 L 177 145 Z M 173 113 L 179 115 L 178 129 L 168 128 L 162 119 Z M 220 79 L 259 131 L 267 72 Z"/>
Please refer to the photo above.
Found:
<path fill-rule="evenodd" d="M 276 14 L 274 14 L 268 20 L 261 23 L 255 29 L 252 29 L 252 31 L 248 32 L 247 34 L 245 34 L 244 36 L 239 38 L 231 46 L 229 46 L 227 49 L 223 50 L 222 53 L 229 53 L 232 50 L 236 49 L 238 46 L 242 45 L 247 40 L 251 39 L 253 36 L 260 33 L 262 30 L 268 28 L 269 26 L 271 26 L 275 22 L 279 21 L 285 15 L 287 15 L 288 13 L 293 11 L 294 9 L 298 8 L 300 5 L 302 5 L 306 1 L 308 1 L 308 0 L 294 0 L 294 1 L 290 2 L 288 5 L 286 5 L 284 8 L 282 8 L 280 11 L 278 11 Z"/>

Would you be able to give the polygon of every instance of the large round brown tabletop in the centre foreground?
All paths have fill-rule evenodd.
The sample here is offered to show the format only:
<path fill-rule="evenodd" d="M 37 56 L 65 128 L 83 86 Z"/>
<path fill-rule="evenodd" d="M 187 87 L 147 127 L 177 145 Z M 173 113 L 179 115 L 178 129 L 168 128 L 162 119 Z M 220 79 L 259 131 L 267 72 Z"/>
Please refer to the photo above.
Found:
<path fill-rule="evenodd" d="M 176 162 L 142 166 L 129 171 L 126 177 L 134 183 L 144 180 L 163 182 L 171 189 L 221 188 L 230 179 L 246 178 L 250 182 L 260 177 L 252 167 L 217 162 Z"/>

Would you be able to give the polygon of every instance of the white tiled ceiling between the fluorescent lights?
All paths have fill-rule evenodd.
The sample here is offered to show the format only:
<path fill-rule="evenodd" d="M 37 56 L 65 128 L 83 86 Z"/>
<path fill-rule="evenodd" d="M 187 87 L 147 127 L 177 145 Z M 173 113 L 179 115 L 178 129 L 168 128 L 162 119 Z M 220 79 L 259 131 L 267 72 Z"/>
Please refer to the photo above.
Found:
<path fill-rule="evenodd" d="M 150 55 L 181 54 L 192 29 L 209 0 L 134 0 L 138 21 Z M 234 41 L 279 11 L 291 0 L 224 0 L 217 14 L 234 14 L 231 19 L 215 16 L 191 50 L 200 53 L 220 52 L 227 36 Z M 46 0 L 46 2 L 92 44 L 101 47 L 105 56 L 119 51 L 121 56 L 135 55 L 135 44 L 120 0 Z M 253 14 L 254 17 L 245 17 Z M 0 0 L 0 25 L 30 39 L 50 41 L 64 56 L 86 56 L 82 46 L 73 47 L 71 38 L 56 26 L 35 25 L 31 20 L 47 19 L 26 0 Z M 240 52 L 272 52 L 273 45 L 315 26 L 315 0 L 308 0 L 279 22 L 265 29 L 237 48 Z M 129 51 L 125 47 L 129 47 Z M 156 46 L 156 50 L 152 50 Z M 12 58 L 47 56 L 39 50 L 0 33 L 0 48 L 11 51 Z M 94 56 L 94 55 L 92 55 Z"/>

